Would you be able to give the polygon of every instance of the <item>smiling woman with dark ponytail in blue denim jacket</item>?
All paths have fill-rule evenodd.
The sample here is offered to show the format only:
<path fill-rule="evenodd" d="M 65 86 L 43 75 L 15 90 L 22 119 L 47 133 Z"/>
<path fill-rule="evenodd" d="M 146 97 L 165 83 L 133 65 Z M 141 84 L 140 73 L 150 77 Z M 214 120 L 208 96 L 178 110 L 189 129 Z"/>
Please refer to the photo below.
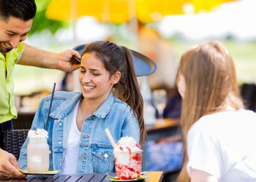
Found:
<path fill-rule="evenodd" d="M 48 121 L 50 170 L 62 174 L 114 171 L 115 141 L 132 136 L 143 144 L 143 98 L 135 76 L 132 55 L 126 47 L 110 41 L 95 41 L 83 51 L 79 81 L 81 92 L 56 92 Z M 115 96 L 116 95 L 116 96 Z M 43 99 L 31 130 L 44 128 L 50 96 Z M 26 169 L 28 138 L 18 160 Z"/>

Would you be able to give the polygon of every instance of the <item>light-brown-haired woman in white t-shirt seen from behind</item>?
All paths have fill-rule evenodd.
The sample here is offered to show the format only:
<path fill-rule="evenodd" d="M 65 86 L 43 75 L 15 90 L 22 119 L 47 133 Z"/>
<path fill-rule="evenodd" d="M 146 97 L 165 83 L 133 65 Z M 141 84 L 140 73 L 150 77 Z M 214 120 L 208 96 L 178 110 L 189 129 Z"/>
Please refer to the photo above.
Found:
<path fill-rule="evenodd" d="M 185 147 L 178 181 L 256 181 L 256 114 L 244 109 L 225 47 L 210 41 L 187 50 L 177 84 Z"/>

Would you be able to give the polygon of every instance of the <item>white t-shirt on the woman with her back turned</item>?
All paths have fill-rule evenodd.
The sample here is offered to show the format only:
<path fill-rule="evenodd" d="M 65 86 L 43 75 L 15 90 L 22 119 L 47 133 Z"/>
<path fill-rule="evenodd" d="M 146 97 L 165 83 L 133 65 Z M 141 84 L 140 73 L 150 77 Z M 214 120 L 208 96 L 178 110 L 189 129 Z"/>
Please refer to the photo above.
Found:
<path fill-rule="evenodd" d="M 256 181 L 256 114 L 222 111 L 201 117 L 187 135 L 190 167 L 221 182 Z"/>

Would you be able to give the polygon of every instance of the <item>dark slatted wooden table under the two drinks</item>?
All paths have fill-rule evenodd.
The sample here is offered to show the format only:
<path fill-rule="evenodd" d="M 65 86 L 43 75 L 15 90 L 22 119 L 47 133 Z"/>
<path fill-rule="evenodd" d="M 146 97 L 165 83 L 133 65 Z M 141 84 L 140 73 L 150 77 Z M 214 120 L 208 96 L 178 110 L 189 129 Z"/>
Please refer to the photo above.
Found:
<path fill-rule="evenodd" d="M 116 173 L 110 173 L 109 175 L 116 175 Z M 96 174 L 87 174 L 87 175 L 53 175 L 53 176 L 35 176 L 35 175 L 28 175 L 27 178 L 24 179 L 9 179 L 9 180 L 0 180 L 0 181 L 8 181 L 8 182 L 26 182 L 26 181 L 54 181 L 54 182 L 110 182 L 108 174 L 96 173 Z M 147 178 L 146 182 L 160 182 L 163 178 L 163 173 L 161 171 L 152 171 L 146 173 L 149 178 Z"/>

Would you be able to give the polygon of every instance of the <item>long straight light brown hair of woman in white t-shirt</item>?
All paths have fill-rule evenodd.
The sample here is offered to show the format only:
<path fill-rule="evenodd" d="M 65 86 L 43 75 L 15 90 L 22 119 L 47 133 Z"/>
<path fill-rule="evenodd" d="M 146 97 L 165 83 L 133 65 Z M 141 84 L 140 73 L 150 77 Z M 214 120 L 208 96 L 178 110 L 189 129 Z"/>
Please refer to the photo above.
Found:
<path fill-rule="evenodd" d="M 188 182 L 187 132 L 201 116 L 224 111 L 227 106 L 244 108 L 233 59 L 217 41 L 192 47 L 181 56 L 178 75 L 182 74 L 186 90 L 182 101 L 181 127 L 184 134 L 184 164 L 178 182 Z"/>

